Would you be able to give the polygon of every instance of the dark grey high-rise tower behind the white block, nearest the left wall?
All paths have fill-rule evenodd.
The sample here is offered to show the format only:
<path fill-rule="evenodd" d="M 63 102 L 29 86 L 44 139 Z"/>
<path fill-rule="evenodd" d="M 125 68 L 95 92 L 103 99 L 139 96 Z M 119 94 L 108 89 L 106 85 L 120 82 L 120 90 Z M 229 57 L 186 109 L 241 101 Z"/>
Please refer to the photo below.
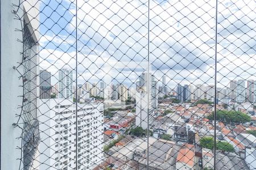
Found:
<path fill-rule="evenodd" d="M 40 70 L 40 99 L 49 99 L 51 98 L 51 73 L 47 70 Z"/>

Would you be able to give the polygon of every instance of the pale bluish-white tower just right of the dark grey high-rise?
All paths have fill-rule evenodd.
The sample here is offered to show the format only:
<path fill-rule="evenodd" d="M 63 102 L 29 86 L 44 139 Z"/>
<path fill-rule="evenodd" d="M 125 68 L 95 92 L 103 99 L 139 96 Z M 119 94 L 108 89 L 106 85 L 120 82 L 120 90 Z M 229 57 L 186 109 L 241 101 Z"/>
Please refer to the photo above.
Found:
<path fill-rule="evenodd" d="M 59 70 L 59 98 L 73 98 L 73 73 L 69 69 Z"/>

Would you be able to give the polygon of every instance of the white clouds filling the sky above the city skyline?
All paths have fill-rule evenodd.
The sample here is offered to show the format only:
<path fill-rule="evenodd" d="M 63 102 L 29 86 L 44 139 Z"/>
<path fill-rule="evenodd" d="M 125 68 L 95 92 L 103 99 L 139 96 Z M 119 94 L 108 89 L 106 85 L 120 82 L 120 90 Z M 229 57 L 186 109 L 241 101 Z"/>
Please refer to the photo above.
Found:
<path fill-rule="evenodd" d="M 70 3 L 67 0 L 66 2 Z M 77 2 L 77 45 L 81 81 L 92 76 L 94 80 L 119 76 L 120 80 L 125 78 L 132 82 L 136 76 L 127 76 L 131 71 L 139 75 L 138 70 L 131 67 L 131 71 L 126 68 L 126 71 L 119 73 L 122 68 L 115 63 L 147 61 L 147 1 Z M 255 7 L 253 1 L 222 1 L 218 4 L 220 24 L 217 37 L 217 67 L 221 68 L 218 69 L 221 71 L 218 79 L 225 83 L 229 81 L 228 78 L 236 78 L 238 74 L 252 77 L 252 73 L 255 73 Z M 70 12 L 76 14 L 74 8 Z M 73 25 L 75 18 L 67 29 L 75 29 Z M 152 72 L 159 78 L 167 74 L 174 82 L 183 80 L 185 83 L 201 79 L 203 82 L 213 83 L 214 30 L 214 1 L 150 1 Z M 52 41 L 57 46 L 67 37 L 43 35 L 40 42 L 45 45 L 47 41 Z M 66 48 L 71 46 L 73 41 L 73 37 L 69 37 L 67 43 L 65 42 Z M 47 50 L 50 53 L 46 52 Z M 42 56 L 48 56 L 49 62 L 43 63 L 52 68 L 62 67 L 75 57 L 75 52 L 47 50 L 42 50 Z M 74 64 L 72 59 L 68 63 L 72 66 Z M 226 75 L 228 78 L 223 78 Z"/>

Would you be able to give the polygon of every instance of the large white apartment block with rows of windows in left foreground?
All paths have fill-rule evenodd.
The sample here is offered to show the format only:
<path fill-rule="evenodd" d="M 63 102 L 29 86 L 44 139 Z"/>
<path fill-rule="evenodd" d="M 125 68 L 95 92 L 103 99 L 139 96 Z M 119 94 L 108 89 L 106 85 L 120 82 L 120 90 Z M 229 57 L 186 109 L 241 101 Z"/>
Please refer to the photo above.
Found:
<path fill-rule="evenodd" d="M 78 108 L 76 133 L 76 105 L 71 100 L 40 100 L 40 169 L 75 169 L 76 145 L 78 169 L 93 169 L 102 162 L 104 106 L 90 103 Z"/>

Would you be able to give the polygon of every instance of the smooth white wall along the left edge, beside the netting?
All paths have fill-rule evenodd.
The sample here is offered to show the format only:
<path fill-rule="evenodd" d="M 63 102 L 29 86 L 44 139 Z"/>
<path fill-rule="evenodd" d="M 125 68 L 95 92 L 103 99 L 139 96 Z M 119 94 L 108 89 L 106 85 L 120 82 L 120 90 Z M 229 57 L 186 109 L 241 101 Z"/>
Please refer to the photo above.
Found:
<path fill-rule="evenodd" d="M 20 150 L 16 146 L 21 145 L 20 129 L 12 124 L 17 121 L 15 114 L 20 113 L 18 105 L 22 104 L 22 84 L 18 79 L 18 72 L 13 69 L 22 59 L 22 32 L 19 20 L 14 20 L 12 3 L 18 4 L 18 0 L 1 1 L 1 169 L 19 169 Z M 18 13 L 21 15 L 22 11 Z"/>

